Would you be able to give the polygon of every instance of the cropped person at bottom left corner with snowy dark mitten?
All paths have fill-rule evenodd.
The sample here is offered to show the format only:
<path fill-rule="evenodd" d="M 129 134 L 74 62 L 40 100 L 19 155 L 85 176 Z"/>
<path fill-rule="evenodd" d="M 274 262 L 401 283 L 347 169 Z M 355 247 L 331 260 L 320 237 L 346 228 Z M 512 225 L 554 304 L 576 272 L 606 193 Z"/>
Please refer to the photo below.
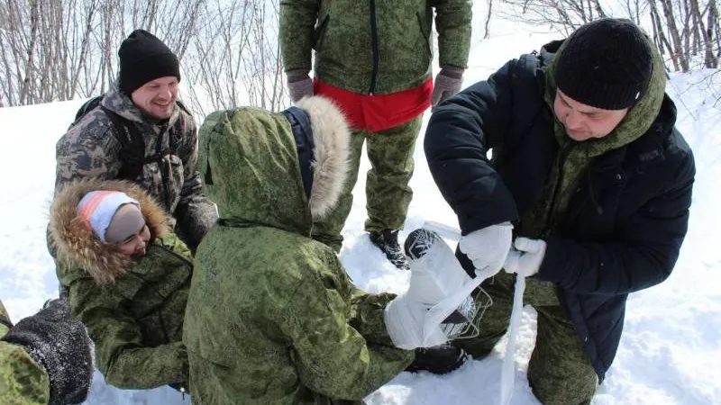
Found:
<path fill-rule="evenodd" d="M 66 302 L 46 302 L 16 325 L 0 302 L 0 403 L 77 404 L 92 381 L 92 343 L 83 325 L 70 319 Z"/>

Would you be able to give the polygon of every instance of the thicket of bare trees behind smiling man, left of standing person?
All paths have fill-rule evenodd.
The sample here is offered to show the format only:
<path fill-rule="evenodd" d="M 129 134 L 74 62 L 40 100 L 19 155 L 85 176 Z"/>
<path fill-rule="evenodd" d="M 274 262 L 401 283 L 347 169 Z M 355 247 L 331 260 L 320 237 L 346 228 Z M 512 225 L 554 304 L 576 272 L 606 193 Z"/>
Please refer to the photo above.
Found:
<path fill-rule="evenodd" d="M 0 3 L 0 106 L 87 97 L 118 74 L 132 30 L 178 55 L 195 112 L 287 103 L 274 0 L 5 0 Z"/>

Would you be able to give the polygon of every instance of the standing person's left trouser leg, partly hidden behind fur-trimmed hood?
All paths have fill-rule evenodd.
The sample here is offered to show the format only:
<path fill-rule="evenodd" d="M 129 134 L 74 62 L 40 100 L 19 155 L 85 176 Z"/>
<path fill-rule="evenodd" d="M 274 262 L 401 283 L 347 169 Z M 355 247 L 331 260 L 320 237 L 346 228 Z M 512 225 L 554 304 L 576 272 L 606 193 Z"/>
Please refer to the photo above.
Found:
<path fill-rule="evenodd" d="M 317 221 L 313 224 L 313 238 L 319 242 L 333 247 L 339 252 L 342 247 L 343 237 L 341 230 L 351 213 L 353 205 L 353 187 L 358 180 L 358 168 L 360 166 L 360 153 L 363 150 L 363 141 L 366 139 L 368 132 L 365 130 L 352 130 L 351 142 L 349 144 L 348 153 L 348 176 L 343 191 L 338 198 L 338 204 L 333 208 L 324 220 Z"/>

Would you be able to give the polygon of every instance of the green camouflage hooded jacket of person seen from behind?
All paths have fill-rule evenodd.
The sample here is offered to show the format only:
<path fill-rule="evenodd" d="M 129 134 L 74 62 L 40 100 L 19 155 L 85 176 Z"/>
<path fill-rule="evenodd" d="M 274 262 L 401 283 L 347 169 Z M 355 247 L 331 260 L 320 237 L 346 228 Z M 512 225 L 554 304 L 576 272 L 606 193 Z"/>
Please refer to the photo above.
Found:
<path fill-rule="evenodd" d="M 221 219 L 198 247 L 187 302 L 193 402 L 360 401 L 403 371 L 414 353 L 388 338 L 383 310 L 393 296 L 360 292 L 333 249 L 310 238 L 296 139 L 283 114 L 214 112 L 199 138 Z"/>

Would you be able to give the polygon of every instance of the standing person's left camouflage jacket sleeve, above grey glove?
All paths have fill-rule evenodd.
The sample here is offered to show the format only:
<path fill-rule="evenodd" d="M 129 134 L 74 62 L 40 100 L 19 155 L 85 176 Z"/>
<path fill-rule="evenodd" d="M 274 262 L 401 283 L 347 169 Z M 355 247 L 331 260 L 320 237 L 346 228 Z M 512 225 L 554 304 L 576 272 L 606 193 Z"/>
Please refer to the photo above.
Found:
<path fill-rule="evenodd" d="M 318 0 L 280 1 L 280 52 L 285 71 L 311 70 Z"/>

